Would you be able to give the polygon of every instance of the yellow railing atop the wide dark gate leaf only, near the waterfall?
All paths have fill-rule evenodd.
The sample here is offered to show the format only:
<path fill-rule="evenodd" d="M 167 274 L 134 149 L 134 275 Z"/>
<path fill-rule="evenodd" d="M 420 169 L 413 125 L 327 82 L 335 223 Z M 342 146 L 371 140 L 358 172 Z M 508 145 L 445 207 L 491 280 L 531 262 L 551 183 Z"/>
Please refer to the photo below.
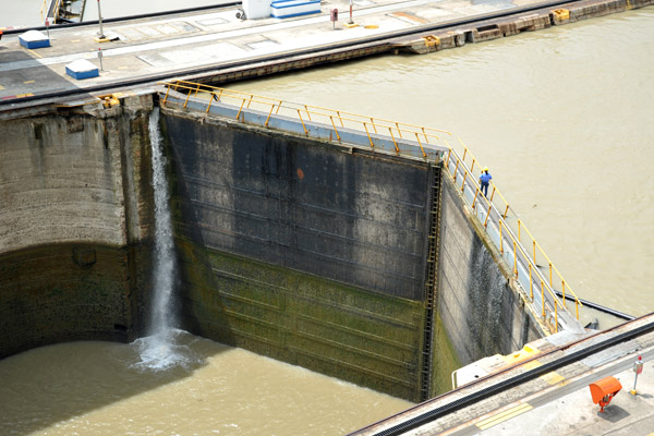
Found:
<path fill-rule="evenodd" d="M 437 144 L 441 142 L 443 135 L 451 135 L 450 132 L 439 129 L 423 128 L 415 124 L 401 123 L 382 118 L 365 117 L 358 113 L 347 112 L 323 108 L 319 106 L 299 105 L 290 101 L 262 97 L 254 94 L 229 90 L 209 85 L 203 85 L 192 82 L 178 81 L 167 83 L 168 92 L 164 97 L 164 104 L 167 104 L 170 89 L 186 94 L 186 99 L 182 107 L 186 108 L 191 96 L 207 99 L 206 112 L 209 112 L 214 102 L 223 102 L 239 108 L 237 119 L 240 119 L 243 109 L 258 110 L 267 113 L 265 126 L 268 126 L 270 117 L 283 114 L 296 118 L 307 132 L 306 121 L 325 123 L 331 126 L 338 141 L 343 129 L 354 129 L 365 132 L 372 148 L 375 147 L 373 135 L 387 135 L 391 138 L 396 153 L 401 153 L 398 140 L 415 141 L 422 152 L 423 158 L 427 156 L 424 145 Z"/>

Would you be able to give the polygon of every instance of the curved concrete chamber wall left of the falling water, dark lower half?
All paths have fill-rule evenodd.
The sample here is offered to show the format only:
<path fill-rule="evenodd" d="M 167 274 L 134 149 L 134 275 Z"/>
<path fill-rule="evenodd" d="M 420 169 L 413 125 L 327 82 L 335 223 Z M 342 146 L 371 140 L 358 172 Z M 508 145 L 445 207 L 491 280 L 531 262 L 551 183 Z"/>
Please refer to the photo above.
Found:
<path fill-rule="evenodd" d="M 0 356 L 137 335 L 152 108 L 148 95 L 0 120 Z"/>

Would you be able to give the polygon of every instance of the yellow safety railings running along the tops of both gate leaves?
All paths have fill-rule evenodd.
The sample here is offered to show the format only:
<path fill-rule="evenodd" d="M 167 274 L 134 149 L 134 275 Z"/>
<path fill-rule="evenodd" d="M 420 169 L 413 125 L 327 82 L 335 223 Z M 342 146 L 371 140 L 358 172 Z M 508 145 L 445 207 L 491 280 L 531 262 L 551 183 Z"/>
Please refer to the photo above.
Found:
<path fill-rule="evenodd" d="M 462 192 L 467 187 L 470 187 L 475 192 L 474 197 L 471 202 L 471 207 L 473 210 L 477 210 L 479 208 L 484 209 L 485 218 L 482 225 L 485 229 L 487 229 L 488 226 L 488 218 L 491 217 L 494 210 L 496 211 L 498 219 L 497 225 L 499 228 L 499 251 L 504 255 L 505 239 L 508 240 L 509 243 L 512 245 L 511 249 L 513 253 L 513 275 L 516 276 L 516 278 L 518 278 L 519 255 L 526 261 L 526 267 L 529 268 L 530 300 L 532 303 L 534 302 L 535 282 L 535 287 L 541 291 L 541 301 L 543 302 L 543 318 L 553 319 L 554 326 L 550 327 L 554 327 L 554 330 L 558 331 L 558 308 L 559 306 L 566 307 L 566 292 L 568 292 L 574 299 L 576 316 L 577 319 L 579 319 L 579 307 L 582 304 L 570 288 L 569 283 L 566 282 L 558 269 L 554 267 L 549 257 L 545 254 L 541 245 L 536 242 L 536 240 L 533 238 L 532 233 L 526 229 L 524 223 L 520 219 L 517 220 L 517 226 L 511 223 L 511 221 L 508 221 L 508 218 L 512 218 L 509 216 L 509 211 L 511 211 L 512 215 L 516 217 L 517 215 L 511 209 L 509 203 L 506 201 L 506 198 L 499 192 L 499 190 L 497 189 L 495 183 L 493 183 L 493 181 L 491 181 L 492 189 L 489 190 L 489 195 L 487 197 L 484 195 L 480 195 L 481 186 L 479 184 L 479 175 L 474 174 L 481 173 L 482 166 L 479 164 L 477 159 L 472 155 L 472 153 L 469 150 L 465 144 L 463 144 L 462 141 L 459 140 L 460 146 L 462 148 L 462 153 L 459 155 L 456 152 L 456 149 L 449 145 L 447 140 L 441 138 L 441 136 L 451 136 L 450 132 L 379 118 L 364 117 L 352 112 L 328 109 L 318 106 L 299 105 L 289 101 L 283 101 L 280 99 L 257 96 L 255 94 L 230 90 L 185 81 L 165 83 L 165 85 L 167 87 L 167 92 L 161 101 L 164 106 L 180 105 L 183 108 L 186 108 L 190 98 L 193 96 L 206 100 L 206 112 L 209 112 L 211 105 L 216 102 L 222 102 L 239 108 L 235 116 L 237 120 L 242 120 L 244 109 L 259 111 L 263 114 L 267 114 L 266 121 L 264 123 L 265 126 L 268 126 L 270 118 L 274 113 L 296 119 L 302 124 L 302 128 L 304 129 L 305 133 L 307 133 L 306 121 L 311 121 L 314 123 L 320 122 L 331 126 L 338 141 L 340 141 L 339 131 L 342 132 L 342 130 L 346 128 L 354 129 L 359 130 L 360 132 L 366 133 L 367 138 L 370 141 L 370 146 L 372 148 L 375 147 L 375 143 L 372 136 L 373 134 L 388 135 L 392 140 L 396 153 L 398 154 L 400 154 L 402 150 L 400 149 L 397 140 L 411 140 L 415 141 L 419 144 L 420 149 L 423 154 L 423 158 L 427 156 L 425 149 L 423 148 L 423 144 L 445 143 L 445 145 L 449 149 L 447 156 L 443 158 L 445 160 L 445 167 L 450 172 L 450 177 L 452 177 L 455 183 L 457 183 L 459 178 L 462 178 Z M 185 95 L 184 101 L 179 102 L 179 97 L 174 99 L 169 99 L 170 90 L 175 90 Z M 450 169 L 450 164 L 452 165 L 453 170 Z M 524 247 L 524 234 L 526 234 L 526 245 L 530 246 L 531 250 Z M 548 266 L 548 278 L 543 276 L 543 274 L 538 269 L 538 261 L 541 258 L 545 259 L 546 265 Z M 554 291 L 554 274 L 556 274 L 556 277 L 558 278 L 557 282 L 561 283 L 562 301 Z M 550 301 L 554 304 L 554 307 L 552 308 L 546 307 L 545 292 L 547 292 L 547 294 L 550 298 Z M 547 316 L 547 312 L 549 312 L 549 316 Z"/>

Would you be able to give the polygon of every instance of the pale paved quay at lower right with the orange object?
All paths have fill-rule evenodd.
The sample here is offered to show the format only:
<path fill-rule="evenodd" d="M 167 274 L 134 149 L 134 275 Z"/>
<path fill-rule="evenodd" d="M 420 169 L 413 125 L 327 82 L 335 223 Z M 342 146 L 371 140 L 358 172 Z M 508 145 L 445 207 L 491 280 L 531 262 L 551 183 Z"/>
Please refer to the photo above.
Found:
<path fill-rule="evenodd" d="M 559 436 L 559 435 L 654 435 L 654 315 L 618 326 L 594 336 L 560 332 L 531 343 L 535 353 L 492 356 L 473 365 L 485 367 L 491 376 L 481 376 L 469 385 L 380 423 L 355 432 L 356 436 L 448 435 L 448 436 Z M 631 337 L 634 331 L 644 331 Z M 619 339 L 610 347 L 605 341 Z M 573 343 L 573 344 L 572 344 Z M 583 359 L 573 355 L 584 353 Z M 642 358 L 643 372 L 633 390 L 634 363 Z M 542 372 L 511 384 L 525 372 L 547 368 L 570 359 L 555 371 Z M 509 365 L 509 366 L 507 366 Z M 621 390 L 604 412 L 591 397 L 589 385 L 615 377 Z M 506 388 L 506 384 L 511 384 Z M 469 396 L 498 391 L 469 401 Z M 497 389 L 497 390 L 493 390 Z M 462 404 L 449 411 L 452 404 Z M 438 412 L 448 410 L 447 413 Z M 437 420 L 403 433 L 391 431 L 402 423 L 417 422 L 425 413 L 437 413 Z"/>

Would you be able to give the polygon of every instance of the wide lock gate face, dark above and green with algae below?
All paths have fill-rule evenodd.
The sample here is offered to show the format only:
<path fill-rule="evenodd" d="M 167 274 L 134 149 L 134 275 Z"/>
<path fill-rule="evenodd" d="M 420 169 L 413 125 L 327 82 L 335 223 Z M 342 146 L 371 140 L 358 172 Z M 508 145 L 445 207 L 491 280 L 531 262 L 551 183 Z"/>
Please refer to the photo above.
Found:
<path fill-rule="evenodd" d="M 162 110 L 185 328 L 416 400 L 431 166 Z"/>

